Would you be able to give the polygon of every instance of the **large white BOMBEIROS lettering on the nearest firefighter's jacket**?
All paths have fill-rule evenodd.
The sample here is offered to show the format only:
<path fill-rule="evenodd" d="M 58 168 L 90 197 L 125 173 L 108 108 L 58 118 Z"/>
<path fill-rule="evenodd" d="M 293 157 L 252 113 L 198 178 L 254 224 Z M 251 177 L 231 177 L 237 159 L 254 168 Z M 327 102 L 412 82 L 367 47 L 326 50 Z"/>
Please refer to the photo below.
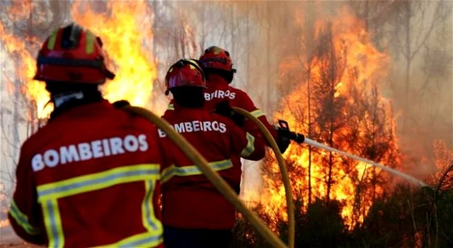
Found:
<path fill-rule="evenodd" d="M 126 152 L 145 152 L 148 147 L 147 135 L 144 134 L 110 137 L 62 146 L 58 149 L 46 150 L 42 154 L 35 154 L 31 159 L 31 166 L 33 171 L 40 171 L 45 167 L 52 168 L 59 164 L 98 159 Z"/>

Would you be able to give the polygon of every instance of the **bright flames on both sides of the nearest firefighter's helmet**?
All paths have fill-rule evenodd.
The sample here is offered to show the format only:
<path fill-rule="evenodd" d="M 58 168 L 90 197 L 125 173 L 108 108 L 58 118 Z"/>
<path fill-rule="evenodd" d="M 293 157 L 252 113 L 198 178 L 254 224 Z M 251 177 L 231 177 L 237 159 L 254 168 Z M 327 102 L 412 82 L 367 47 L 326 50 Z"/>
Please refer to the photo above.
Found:
<path fill-rule="evenodd" d="M 72 16 L 74 21 L 89 28 L 103 40 L 108 66 L 116 74 L 115 79 L 103 86 L 105 98 L 109 101 L 125 99 L 133 105 L 146 106 L 157 77 L 151 49 L 151 10 L 145 1 L 109 1 L 106 3 L 108 11 L 96 13 L 90 9 L 90 4 L 96 2 L 76 2 L 73 4 Z M 13 21 L 29 17 L 30 9 L 18 8 L 17 3 L 5 8 L 14 16 Z M 52 111 L 52 108 L 45 108 L 50 96 L 43 82 L 33 80 L 35 55 L 43 40 L 31 36 L 22 38 L 24 34 L 10 32 L 12 29 L 0 23 L 1 43 L 11 57 L 10 61 L 14 61 L 11 68 L 3 68 L 4 72 L 13 71 L 13 76 L 4 77 L 7 89 L 10 93 L 18 89 L 35 105 L 36 113 L 29 116 L 30 121 L 34 122 L 36 117 L 47 118 Z M 21 81 L 21 86 L 13 81 L 15 79 Z"/>

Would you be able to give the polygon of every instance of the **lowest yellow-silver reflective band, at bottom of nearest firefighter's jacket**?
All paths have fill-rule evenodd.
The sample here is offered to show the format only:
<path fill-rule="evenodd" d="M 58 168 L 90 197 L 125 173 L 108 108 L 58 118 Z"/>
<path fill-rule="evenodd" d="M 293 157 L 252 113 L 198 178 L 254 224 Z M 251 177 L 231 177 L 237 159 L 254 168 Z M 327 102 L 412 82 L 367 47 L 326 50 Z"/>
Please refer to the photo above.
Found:
<path fill-rule="evenodd" d="M 162 232 L 144 232 L 139 235 L 134 235 L 122 239 L 120 242 L 113 244 L 105 244 L 98 247 L 156 247 L 159 244 L 164 242 L 164 237 L 162 237 Z M 93 247 L 96 248 L 96 247 Z"/>

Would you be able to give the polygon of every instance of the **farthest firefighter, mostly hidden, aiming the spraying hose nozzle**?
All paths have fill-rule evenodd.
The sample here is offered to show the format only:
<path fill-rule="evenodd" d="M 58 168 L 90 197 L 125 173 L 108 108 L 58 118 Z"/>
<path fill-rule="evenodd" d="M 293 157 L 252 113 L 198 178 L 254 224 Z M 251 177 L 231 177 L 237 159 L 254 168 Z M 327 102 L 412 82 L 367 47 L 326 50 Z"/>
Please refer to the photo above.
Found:
<path fill-rule="evenodd" d="M 244 123 L 238 115 L 232 113 L 230 106 L 245 109 L 265 125 L 277 142 L 280 152 L 285 152 L 290 140 L 282 135 L 280 130 L 269 123 L 263 111 L 256 108 L 250 96 L 245 91 L 236 89 L 230 85 L 236 69 L 233 69 L 229 52 L 220 47 L 212 46 L 203 52 L 199 61 L 207 77 L 205 109 L 229 116 L 235 120 L 235 123 L 239 123 L 244 130 L 252 133 L 255 137 L 260 137 L 261 134 L 258 128 L 250 120 L 246 120 Z M 172 111 L 174 105 L 174 101 L 172 101 L 168 105 L 168 111 Z"/>

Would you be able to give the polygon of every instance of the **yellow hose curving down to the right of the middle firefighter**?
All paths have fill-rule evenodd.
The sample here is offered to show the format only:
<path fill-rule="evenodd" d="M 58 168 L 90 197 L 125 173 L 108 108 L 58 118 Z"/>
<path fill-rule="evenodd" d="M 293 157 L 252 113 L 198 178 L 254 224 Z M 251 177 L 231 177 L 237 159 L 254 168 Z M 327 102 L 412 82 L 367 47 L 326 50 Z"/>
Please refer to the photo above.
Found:
<path fill-rule="evenodd" d="M 286 169 L 286 163 L 285 159 L 283 159 L 282 153 L 280 152 L 280 149 L 278 148 L 277 142 L 275 142 L 274 138 L 270 134 L 268 128 L 261 123 L 258 118 L 253 116 L 251 113 L 248 113 L 248 111 L 242 109 L 242 108 L 236 108 L 232 107 L 234 112 L 239 113 L 240 115 L 243 115 L 244 117 L 248 118 L 249 120 L 252 120 L 253 123 L 256 123 L 258 125 L 258 128 L 260 129 L 261 133 L 266 137 L 266 140 L 268 140 L 270 147 L 272 147 L 275 157 L 277 157 L 278 164 L 280 166 L 280 171 L 282 172 L 282 180 L 283 180 L 283 185 L 285 186 L 285 195 L 286 195 L 286 202 L 287 202 L 287 211 L 288 211 L 288 247 L 292 248 L 294 247 L 294 237 L 295 237 L 295 222 L 294 222 L 294 203 L 292 201 L 292 191 L 291 191 L 291 183 L 289 181 L 289 176 L 288 176 L 288 171 Z"/>

